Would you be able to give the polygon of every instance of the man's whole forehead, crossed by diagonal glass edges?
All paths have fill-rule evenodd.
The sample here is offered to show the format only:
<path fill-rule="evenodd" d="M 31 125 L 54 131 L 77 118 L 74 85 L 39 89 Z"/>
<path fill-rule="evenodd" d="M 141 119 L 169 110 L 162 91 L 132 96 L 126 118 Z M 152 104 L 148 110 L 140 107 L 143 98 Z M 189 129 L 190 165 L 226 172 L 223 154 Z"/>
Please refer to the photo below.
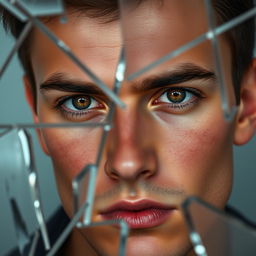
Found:
<path fill-rule="evenodd" d="M 61 24 L 56 18 L 46 25 L 96 75 L 111 83 L 123 44 L 129 73 L 207 31 L 203 1 L 172 0 L 163 1 L 162 5 L 152 2 L 145 1 L 135 9 L 121 6 L 122 18 L 113 22 L 104 23 L 97 18 L 89 18 L 72 11 L 68 13 L 67 24 Z M 210 45 L 204 43 L 166 65 L 169 68 L 170 64 L 181 61 L 198 61 L 199 65 L 210 65 L 210 68 L 213 68 L 210 59 Z M 38 30 L 34 30 L 32 36 L 31 62 L 37 84 L 42 83 L 54 72 L 86 78 L 86 75 Z M 158 69 L 161 67 L 155 69 L 155 72 Z"/>

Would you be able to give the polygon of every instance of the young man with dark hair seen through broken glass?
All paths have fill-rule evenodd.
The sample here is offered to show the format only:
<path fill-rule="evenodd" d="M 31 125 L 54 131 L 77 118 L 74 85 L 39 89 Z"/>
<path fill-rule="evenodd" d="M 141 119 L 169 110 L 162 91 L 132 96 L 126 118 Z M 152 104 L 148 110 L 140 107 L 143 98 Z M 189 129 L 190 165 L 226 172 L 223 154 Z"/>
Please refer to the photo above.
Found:
<path fill-rule="evenodd" d="M 117 2 L 65 3 L 67 24 L 57 17 L 42 21 L 112 88 L 122 46 Z M 252 1 L 244 0 L 213 4 L 219 23 L 252 7 Z M 133 11 L 123 22 L 141 22 L 127 34 L 124 27 L 128 75 L 208 30 L 203 1 L 145 0 Z M 20 24 L 6 13 L 4 22 L 19 34 Z M 196 195 L 220 209 L 226 206 L 232 187 L 232 145 L 250 140 L 256 126 L 253 23 L 223 35 L 220 47 L 231 102 L 239 103 L 230 123 L 223 118 L 209 41 L 122 84 L 120 98 L 126 108 L 114 114 L 92 219 L 124 219 L 131 229 L 129 256 L 194 255 L 180 204 Z M 106 120 L 110 100 L 38 29 L 31 32 L 20 57 L 35 122 Z M 41 129 L 38 134 L 71 217 L 71 181 L 95 161 L 101 130 Z M 74 229 L 62 255 L 115 255 L 116 233 L 115 226 Z"/>

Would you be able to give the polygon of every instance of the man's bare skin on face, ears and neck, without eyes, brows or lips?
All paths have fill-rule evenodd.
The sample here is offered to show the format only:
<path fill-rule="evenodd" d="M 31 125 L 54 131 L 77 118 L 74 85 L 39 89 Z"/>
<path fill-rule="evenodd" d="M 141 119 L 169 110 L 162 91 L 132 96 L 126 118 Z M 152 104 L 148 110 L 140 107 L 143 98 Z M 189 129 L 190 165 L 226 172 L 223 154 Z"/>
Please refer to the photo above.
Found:
<path fill-rule="evenodd" d="M 168 2 L 170 4 L 171 1 Z M 166 8 L 142 5 L 133 13 L 130 21 L 140 22 L 140 26 L 134 34 L 129 28 L 124 34 L 127 74 L 206 31 L 202 2 L 197 1 L 195 9 L 198 12 L 190 12 L 189 1 L 173 1 L 172 6 L 168 2 Z M 127 18 L 123 22 L 127 24 Z M 47 26 L 112 88 L 122 44 L 118 21 L 103 24 L 97 19 L 76 17 L 69 13 L 67 24 L 62 25 L 54 19 Z M 166 41 L 169 43 L 164 44 Z M 231 56 L 225 39 L 221 39 L 221 47 L 226 67 L 225 79 L 232 88 Z M 37 30 L 32 35 L 31 62 L 37 84 L 37 102 L 33 101 L 26 78 L 25 88 L 31 108 L 36 104 L 37 112 L 33 113 L 35 122 L 105 120 L 109 100 L 102 93 L 95 95 L 39 89 L 40 84 L 54 73 L 65 73 L 66 80 L 79 83 L 91 81 Z M 114 126 L 99 166 L 93 220 L 102 221 L 99 212 L 119 200 L 151 199 L 176 207 L 163 224 L 131 231 L 127 244 L 129 256 L 138 253 L 149 256 L 193 255 L 180 204 L 186 196 L 195 195 L 223 209 L 232 187 L 232 144 L 244 144 L 254 132 L 254 65 L 243 81 L 242 103 L 231 123 L 223 119 L 218 84 L 214 79 L 195 79 L 142 90 L 142 85 L 149 79 L 167 71 L 184 70 L 188 63 L 214 72 L 211 44 L 205 42 L 133 81 L 125 81 L 120 91 L 126 108 L 116 109 L 114 114 Z M 200 92 L 200 97 L 190 92 L 187 104 L 177 108 L 166 101 L 164 94 L 174 87 L 196 90 Z M 62 114 L 56 108 L 56 102 L 63 97 L 76 95 L 92 96 L 100 104 L 95 103 L 91 112 L 76 118 Z M 234 103 L 234 96 L 231 98 Z M 95 162 L 101 133 L 100 128 L 38 131 L 42 148 L 52 159 L 59 194 L 69 216 L 72 216 L 73 210 L 72 179 L 86 164 Z M 118 234 L 116 227 L 74 230 L 65 253 L 117 255 Z"/>

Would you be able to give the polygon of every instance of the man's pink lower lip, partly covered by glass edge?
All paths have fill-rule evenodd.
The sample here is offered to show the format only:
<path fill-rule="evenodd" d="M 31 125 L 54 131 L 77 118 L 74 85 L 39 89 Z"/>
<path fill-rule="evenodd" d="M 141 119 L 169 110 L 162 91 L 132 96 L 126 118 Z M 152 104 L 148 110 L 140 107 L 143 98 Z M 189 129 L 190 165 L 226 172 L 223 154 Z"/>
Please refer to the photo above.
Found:
<path fill-rule="evenodd" d="M 150 208 L 141 211 L 117 210 L 102 214 L 105 220 L 123 220 L 129 228 L 152 228 L 163 224 L 170 216 L 172 210 Z"/>

